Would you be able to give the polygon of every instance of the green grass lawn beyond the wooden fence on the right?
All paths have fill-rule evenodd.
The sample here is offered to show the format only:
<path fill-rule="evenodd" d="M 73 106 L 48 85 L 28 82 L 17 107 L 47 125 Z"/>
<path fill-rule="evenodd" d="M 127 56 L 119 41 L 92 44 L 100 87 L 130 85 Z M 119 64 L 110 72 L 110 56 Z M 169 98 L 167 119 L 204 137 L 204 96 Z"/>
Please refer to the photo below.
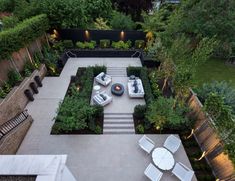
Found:
<path fill-rule="evenodd" d="M 201 65 L 196 74 L 197 86 L 213 80 L 231 81 L 231 85 L 235 88 L 235 67 L 225 65 L 224 60 L 210 59 Z"/>

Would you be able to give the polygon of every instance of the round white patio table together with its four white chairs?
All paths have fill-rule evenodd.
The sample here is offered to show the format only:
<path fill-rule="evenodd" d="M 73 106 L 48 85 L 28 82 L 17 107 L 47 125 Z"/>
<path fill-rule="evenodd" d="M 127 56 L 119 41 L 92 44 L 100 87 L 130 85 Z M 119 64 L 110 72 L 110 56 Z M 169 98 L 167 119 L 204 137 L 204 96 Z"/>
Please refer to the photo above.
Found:
<path fill-rule="evenodd" d="M 146 135 L 139 140 L 139 146 L 148 154 L 155 147 L 155 143 Z M 169 135 L 163 147 L 156 147 L 152 151 L 152 163 L 144 171 L 144 174 L 152 181 L 160 180 L 164 171 L 171 171 L 181 181 L 191 181 L 194 175 L 194 171 L 189 169 L 184 164 L 178 162 L 174 158 L 175 152 L 179 149 L 181 141 L 174 135 Z M 157 166 L 157 168 L 155 167 Z M 160 170 L 159 170 L 159 169 Z"/>

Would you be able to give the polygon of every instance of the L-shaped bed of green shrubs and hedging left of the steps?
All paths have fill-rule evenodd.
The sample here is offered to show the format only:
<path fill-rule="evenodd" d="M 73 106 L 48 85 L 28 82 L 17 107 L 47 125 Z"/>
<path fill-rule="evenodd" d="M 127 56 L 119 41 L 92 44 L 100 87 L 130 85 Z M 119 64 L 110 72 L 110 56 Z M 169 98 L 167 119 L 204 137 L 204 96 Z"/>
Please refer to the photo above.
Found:
<path fill-rule="evenodd" d="M 79 68 L 60 103 L 52 134 L 101 134 L 103 107 L 90 105 L 93 80 L 105 67 Z"/>

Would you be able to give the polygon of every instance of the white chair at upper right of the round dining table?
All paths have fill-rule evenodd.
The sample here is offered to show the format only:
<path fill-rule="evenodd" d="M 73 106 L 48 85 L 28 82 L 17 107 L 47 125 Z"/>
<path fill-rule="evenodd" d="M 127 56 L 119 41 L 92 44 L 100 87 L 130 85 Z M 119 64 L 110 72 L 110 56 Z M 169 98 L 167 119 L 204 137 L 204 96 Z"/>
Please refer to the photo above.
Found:
<path fill-rule="evenodd" d="M 175 137 L 174 135 L 170 135 L 167 137 L 163 146 L 172 153 L 175 153 L 179 149 L 180 145 L 181 145 L 181 140 Z"/>

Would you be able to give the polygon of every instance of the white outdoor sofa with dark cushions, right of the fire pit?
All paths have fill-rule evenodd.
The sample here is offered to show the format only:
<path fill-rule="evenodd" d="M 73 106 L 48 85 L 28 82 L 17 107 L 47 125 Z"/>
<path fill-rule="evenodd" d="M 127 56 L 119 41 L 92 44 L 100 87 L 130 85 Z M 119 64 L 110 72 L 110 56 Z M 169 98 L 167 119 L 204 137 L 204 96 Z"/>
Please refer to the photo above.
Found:
<path fill-rule="evenodd" d="M 128 94 L 131 98 L 144 97 L 144 87 L 140 79 L 129 80 L 127 86 L 128 86 Z"/>

